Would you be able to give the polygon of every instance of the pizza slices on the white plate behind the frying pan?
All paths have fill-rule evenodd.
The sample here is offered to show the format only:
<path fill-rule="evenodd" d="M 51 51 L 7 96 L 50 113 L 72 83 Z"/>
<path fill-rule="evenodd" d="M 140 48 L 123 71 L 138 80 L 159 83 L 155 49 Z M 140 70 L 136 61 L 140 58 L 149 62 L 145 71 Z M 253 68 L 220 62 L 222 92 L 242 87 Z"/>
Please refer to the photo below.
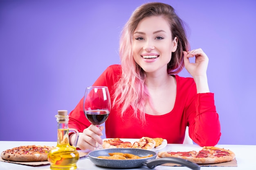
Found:
<path fill-rule="evenodd" d="M 150 138 L 142 137 L 138 141 L 134 142 L 124 142 L 120 138 L 113 138 L 103 141 L 102 147 L 107 148 L 141 148 L 141 149 L 153 149 L 162 144 L 164 139 L 162 138 Z"/>

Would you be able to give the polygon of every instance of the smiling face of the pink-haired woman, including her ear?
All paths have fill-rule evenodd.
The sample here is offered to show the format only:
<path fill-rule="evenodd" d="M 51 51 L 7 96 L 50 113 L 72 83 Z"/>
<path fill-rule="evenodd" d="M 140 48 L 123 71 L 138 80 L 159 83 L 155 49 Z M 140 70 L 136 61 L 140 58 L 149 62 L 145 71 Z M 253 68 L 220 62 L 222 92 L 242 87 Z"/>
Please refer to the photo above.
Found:
<path fill-rule="evenodd" d="M 141 20 L 133 33 L 133 58 L 147 73 L 165 71 L 177 48 L 171 28 L 162 17 L 152 16 Z"/>

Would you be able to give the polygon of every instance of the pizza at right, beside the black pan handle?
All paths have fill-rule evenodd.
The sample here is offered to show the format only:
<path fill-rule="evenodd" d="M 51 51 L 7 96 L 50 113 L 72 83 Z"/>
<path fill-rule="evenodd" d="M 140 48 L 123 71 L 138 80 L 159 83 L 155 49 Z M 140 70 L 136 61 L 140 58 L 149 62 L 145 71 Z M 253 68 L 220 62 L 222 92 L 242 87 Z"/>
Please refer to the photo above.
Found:
<path fill-rule="evenodd" d="M 159 152 L 157 156 L 160 158 L 178 157 L 198 164 L 222 163 L 235 159 L 235 153 L 231 150 L 214 146 L 204 146 L 199 152 L 195 150 L 189 152 Z"/>

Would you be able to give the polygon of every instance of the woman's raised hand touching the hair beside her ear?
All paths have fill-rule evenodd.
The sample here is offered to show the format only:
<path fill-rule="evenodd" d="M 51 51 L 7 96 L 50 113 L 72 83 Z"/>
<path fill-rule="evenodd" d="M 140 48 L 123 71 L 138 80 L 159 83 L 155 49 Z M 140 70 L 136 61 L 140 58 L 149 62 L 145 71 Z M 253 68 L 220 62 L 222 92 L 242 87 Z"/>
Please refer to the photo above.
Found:
<path fill-rule="evenodd" d="M 184 54 L 184 65 L 186 70 L 195 77 L 206 76 L 207 66 L 209 59 L 201 48 L 191 50 L 189 52 L 183 51 Z M 190 57 L 195 56 L 195 63 L 189 61 Z"/>

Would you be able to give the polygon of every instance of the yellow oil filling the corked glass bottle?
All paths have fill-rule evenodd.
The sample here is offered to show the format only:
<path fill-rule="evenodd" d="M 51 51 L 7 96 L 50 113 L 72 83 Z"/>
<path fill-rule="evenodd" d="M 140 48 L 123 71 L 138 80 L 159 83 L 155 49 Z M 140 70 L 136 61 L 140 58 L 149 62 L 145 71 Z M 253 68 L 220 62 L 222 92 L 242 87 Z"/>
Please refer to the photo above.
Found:
<path fill-rule="evenodd" d="M 48 153 L 48 161 L 52 170 L 74 170 L 79 160 L 79 153 L 70 146 L 68 129 L 58 129 L 57 146 Z"/>

